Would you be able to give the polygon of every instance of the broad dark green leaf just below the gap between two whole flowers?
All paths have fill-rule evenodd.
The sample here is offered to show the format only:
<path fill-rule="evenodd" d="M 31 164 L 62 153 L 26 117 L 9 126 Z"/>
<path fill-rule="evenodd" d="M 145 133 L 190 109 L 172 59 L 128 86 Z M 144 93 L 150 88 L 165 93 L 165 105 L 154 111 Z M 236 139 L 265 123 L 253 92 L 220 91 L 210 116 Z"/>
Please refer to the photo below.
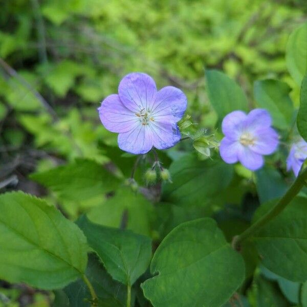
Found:
<path fill-rule="evenodd" d="M 233 165 L 218 158 L 199 161 L 195 155 L 174 161 L 169 171 L 172 183 L 163 185 L 162 201 L 184 206 L 205 206 L 233 177 Z"/>

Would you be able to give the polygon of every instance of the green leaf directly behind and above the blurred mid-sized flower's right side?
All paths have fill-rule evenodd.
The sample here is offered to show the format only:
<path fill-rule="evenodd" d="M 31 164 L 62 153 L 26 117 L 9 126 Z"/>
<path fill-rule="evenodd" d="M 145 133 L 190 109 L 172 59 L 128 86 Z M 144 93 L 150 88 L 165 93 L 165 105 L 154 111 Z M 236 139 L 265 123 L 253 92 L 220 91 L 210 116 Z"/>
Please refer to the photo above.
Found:
<path fill-rule="evenodd" d="M 276 128 L 289 129 L 294 120 L 290 91 L 287 83 L 278 80 L 267 79 L 254 83 L 254 97 L 257 104 L 270 112 Z"/>

